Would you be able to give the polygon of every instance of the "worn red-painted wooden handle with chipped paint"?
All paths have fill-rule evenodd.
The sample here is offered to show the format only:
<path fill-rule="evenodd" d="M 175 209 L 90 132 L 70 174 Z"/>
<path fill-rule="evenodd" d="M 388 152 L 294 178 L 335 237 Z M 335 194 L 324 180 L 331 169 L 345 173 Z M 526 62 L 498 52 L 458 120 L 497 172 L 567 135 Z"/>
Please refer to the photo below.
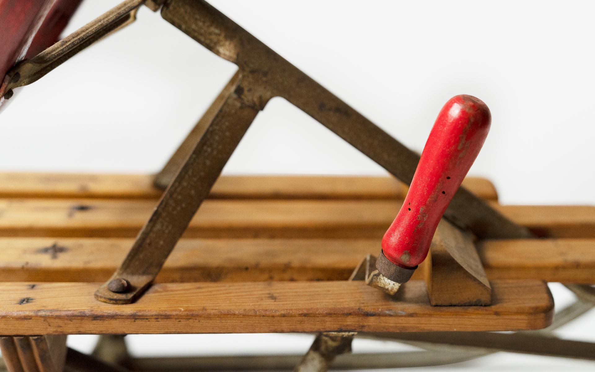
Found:
<path fill-rule="evenodd" d="M 451 98 L 425 143 L 405 202 L 382 239 L 386 258 L 403 268 L 425 260 L 440 218 L 490 130 L 490 110 L 473 96 Z"/>

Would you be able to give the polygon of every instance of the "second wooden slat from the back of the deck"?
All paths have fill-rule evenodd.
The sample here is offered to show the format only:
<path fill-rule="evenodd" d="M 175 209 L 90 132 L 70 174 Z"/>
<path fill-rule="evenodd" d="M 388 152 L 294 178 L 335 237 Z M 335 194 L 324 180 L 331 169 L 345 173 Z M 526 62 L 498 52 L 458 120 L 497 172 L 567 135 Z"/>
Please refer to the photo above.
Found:
<path fill-rule="evenodd" d="M 397 200 L 207 200 L 186 237 L 381 237 Z M 500 206 L 540 235 L 595 237 L 595 207 Z M 133 237 L 155 208 L 146 199 L 0 199 L 0 236 Z"/>

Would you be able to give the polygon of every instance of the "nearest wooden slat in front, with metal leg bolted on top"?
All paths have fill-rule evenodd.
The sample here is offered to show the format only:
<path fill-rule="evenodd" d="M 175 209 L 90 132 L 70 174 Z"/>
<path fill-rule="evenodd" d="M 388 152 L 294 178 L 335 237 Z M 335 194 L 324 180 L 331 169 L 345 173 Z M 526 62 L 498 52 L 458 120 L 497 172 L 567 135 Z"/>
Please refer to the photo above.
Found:
<path fill-rule="evenodd" d="M 129 305 L 96 301 L 98 286 L 0 283 L 0 329 L 6 335 L 521 330 L 548 326 L 553 311 L 547 286 L 530 280 L 494 281 L 488 307 L 432 307 L 417 280 L 394 299 L 363 282 L 164 283 Z"/>

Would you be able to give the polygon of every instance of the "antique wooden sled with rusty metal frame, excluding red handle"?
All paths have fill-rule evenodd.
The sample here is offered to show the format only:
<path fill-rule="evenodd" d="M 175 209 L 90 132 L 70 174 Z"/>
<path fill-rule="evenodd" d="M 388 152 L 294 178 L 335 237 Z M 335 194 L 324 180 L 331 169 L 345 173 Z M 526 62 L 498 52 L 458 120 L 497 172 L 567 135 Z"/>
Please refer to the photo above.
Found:
<path fill-rule="evenodd" d="M 417 154 L 206 2 L 127 0 L 22 59 L 57 6 L 30 3 L 39 14 L 16 33 L 21 52 L 8 58 L 0 104 L 131 23 L 143 4 L 238 71 L 154 176 L 0 174 L 0 349 L 8 370 L 324 371 L 446 364 L 502 350 L 595 359 L 594 344 L 551 334 L 595 305 L 595 208 L 500 205 L 488 180 L 466 179 L 442 193 L 452 201 L 428 257 L 387 295 L 367 282 Z M 274 96 L 394 178 L 220 177 Z M 566 283 L 580 299 L 553 323 L 546 282 Z M 176 360 L 130 358 L 121 336 L 109 336 L 267 332 L 318 336 L 304 357 Z M 66 348 L 76 334 L 105 336 L 84 355 Z M 353 337 L 427 351 L 347 354 Z"/>

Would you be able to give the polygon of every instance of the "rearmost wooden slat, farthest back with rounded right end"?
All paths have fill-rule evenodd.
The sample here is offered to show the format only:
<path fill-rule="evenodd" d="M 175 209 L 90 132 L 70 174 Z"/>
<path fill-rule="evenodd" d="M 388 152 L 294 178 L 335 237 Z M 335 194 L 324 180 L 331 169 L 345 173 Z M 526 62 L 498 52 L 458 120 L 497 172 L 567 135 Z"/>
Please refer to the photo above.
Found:
<path fill-rule="evenodd" d="M 498 198 L 486 179 L 468 177 L 462 185 L 481 198 Z M 403 199 L 407 189 L 394 177 L 221 176 L 209 197 Z M 0 198 L 156 199 L 161 192 L 151 174 L 0 173 Z"/>

